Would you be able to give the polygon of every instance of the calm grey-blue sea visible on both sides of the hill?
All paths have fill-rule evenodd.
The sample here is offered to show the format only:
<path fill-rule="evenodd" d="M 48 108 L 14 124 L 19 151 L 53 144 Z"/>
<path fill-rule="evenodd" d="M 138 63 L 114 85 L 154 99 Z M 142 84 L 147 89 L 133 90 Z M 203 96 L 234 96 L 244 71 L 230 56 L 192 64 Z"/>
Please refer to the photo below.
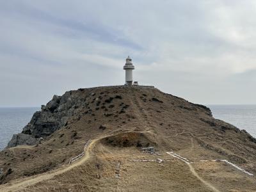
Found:
<path fill-rule="evenodd" d="M 214 118 L 239 129 L 245 129 L 256 138 L 256 105 L 208 105 Z M 6 147 L 13 134 L 22 131 L 35 111 L 40 108 L 0 108 L 0 150 Z"/>

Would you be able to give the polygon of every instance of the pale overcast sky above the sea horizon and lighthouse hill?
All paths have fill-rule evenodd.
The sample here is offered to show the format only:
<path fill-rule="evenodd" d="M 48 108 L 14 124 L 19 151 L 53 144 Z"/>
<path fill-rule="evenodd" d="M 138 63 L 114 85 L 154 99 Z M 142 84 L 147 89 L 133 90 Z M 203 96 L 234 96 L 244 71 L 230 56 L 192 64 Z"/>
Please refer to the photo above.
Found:
<path fill-rule="evenodd" d="M 134 80 L 200 104 L 256 104 L 256 1 L 1 1 L 0 106 Z"/>

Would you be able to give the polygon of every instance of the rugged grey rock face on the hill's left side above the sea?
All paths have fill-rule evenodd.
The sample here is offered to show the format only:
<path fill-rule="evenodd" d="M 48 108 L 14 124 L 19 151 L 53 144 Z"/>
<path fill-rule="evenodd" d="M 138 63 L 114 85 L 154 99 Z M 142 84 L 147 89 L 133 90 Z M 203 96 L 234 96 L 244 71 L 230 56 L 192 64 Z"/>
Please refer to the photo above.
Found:
<path fill-rule="evenodd" d="M 69 120 L 74 120 L 74 116 L 79 118 L 77 114 L 84 107 L 85 100 L 86 98 L 81 98 L 72 91 L 62 96 L 54 95 L 46 106 L 41 107 L 41 111 L 33 115 L 21 133 L 13 135 L 8 147 L 35 145 L 39 138 L 45 138 L 67 125 Z"/>

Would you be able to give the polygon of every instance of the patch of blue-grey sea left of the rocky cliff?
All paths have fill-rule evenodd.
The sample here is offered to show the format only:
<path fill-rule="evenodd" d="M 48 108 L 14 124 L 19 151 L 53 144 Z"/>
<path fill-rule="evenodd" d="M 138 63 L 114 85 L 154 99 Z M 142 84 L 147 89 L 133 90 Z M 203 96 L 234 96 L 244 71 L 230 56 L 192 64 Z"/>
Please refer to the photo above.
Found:
<path fill-rule="evenodd" d="M 40 108 L 0 108 L 0 150 L 6 147 L 12 135 L 22 131 L 35 111 Z"/>

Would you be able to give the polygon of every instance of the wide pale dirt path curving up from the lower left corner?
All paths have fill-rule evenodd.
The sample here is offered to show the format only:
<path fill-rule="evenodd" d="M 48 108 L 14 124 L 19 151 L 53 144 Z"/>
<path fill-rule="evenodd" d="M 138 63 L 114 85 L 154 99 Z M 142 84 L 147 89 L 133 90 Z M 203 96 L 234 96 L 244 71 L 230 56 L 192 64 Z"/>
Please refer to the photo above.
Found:
<path fill-rule="evenodd" d="M 96 140 L 93 140 L 90 143 L 90 145 L 87 148 L 87 151 L 89 151 L 90 148 L 92 148 L 92 145 L 93 143 L 95 143 L 95 141 Z M 62 173 L 68 172 L 69 170 L 72 170 L 72 168 L 83 164 L 85 161 L 89 159 L 89 157 L 90 157 L 90 153 L 87 152 L 85 156 L 81 158 L 81 160 L 78 160 L 76 163 L 70 164 L 69 166 L 65 165 L 65 166 L 62 166 L 61 168 L 58 168 L 57 170 L 53 170 L 52 172 L 42 173 L 40 175 L 35 175 L 25 179 L 13 180 L 8 184 L 4 184 L 0 186 L 0 191 L 20 191 L 20 189 L 26 188 L 27 186 L 31 186 L 43 180 L 52 179 L 52 177 L 56 175 L 60 175 Z"/>

